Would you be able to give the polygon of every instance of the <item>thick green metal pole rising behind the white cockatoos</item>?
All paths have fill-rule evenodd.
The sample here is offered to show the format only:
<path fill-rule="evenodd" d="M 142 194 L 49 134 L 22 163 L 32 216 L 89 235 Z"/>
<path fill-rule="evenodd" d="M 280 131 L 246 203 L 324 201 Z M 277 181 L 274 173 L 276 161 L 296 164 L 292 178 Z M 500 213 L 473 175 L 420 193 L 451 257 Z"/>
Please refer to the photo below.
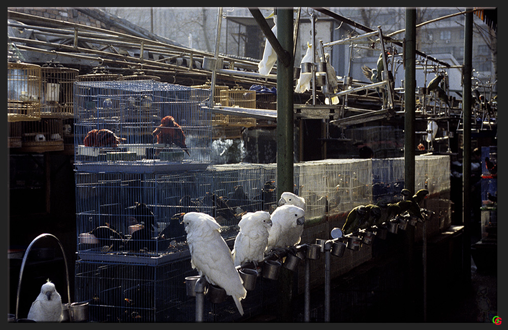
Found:
<path fill-rule="evenodd" d="M 293 8 L 276 9 L 277 39 L 288 52 L 289 61 L 277 57 L 277 199 L 293 192 Z M 284 63 L 286 63 L 284 65 Z M 278 283 L 278 316 L 292 322 L 293 272 L 282 268 Z"/>

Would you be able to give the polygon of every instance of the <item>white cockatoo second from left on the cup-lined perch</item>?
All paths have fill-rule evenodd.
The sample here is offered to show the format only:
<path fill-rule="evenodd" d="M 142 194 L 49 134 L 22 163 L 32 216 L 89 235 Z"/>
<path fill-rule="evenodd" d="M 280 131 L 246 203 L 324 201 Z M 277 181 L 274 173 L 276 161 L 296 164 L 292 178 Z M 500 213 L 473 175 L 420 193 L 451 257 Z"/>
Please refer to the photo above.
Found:
<path fill-rule="evenodd" d="M 236 236 L 235 245 L 231 251 L 235 266 L 249 261 L 255 263 L 263 261 L 268 243 L 268 230 L 272 226 L 270 213 L 248 212 L 242 216 L 238 225 L 240 232 Z"/>

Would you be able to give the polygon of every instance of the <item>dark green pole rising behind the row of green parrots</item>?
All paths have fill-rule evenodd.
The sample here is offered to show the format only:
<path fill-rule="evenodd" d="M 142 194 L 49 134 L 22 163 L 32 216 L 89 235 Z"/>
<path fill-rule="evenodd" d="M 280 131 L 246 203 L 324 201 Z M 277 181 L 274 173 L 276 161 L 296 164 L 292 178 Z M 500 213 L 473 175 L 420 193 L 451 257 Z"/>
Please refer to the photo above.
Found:
<path fill-rule="evenodd" d="M 406 9 L 404 42 L 404 188 L 415 192 L 416 9 Z"/>

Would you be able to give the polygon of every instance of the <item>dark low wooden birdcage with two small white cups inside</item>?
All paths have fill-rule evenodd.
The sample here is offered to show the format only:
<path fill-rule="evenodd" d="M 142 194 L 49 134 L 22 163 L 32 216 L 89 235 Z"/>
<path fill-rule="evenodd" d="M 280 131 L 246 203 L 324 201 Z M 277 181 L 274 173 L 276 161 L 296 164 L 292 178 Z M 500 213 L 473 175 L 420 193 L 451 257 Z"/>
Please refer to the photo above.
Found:
<path fill-rule="evenodd" d="M 26 152 L 62 151 L 63 129 L 60 118 L 41 118 L 21 123 L 21 150 Z"/>

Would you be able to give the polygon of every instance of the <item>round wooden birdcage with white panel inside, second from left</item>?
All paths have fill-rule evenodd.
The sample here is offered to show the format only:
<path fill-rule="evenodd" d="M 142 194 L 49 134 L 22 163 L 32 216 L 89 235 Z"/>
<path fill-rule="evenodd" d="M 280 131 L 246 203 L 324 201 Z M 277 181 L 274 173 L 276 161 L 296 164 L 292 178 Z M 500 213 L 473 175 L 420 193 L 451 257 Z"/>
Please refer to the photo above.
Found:
<path fill-rule="evenodd" d="M 53 62 L 43 65 L 40 117 L 74 117 L 73 86 L 78 74 L 77 69 Z"/>

